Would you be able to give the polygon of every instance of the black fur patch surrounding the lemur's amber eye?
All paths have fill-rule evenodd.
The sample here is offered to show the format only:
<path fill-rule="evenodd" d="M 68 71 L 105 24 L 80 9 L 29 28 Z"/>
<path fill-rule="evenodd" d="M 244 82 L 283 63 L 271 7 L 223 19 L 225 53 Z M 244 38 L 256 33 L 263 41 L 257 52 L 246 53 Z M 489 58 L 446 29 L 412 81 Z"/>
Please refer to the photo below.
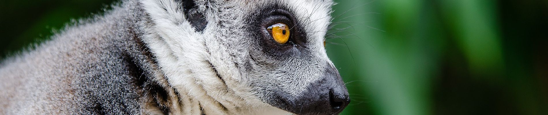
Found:
<path fill-rule="evenodd" d="M 309 56 L 310 49 L 306 44 L 306 33 L 302 24 L 295 17 L 294 11 L 286 8 L 284 5 L 269 5 L 261 7 L 246 16 L 245 21 L 249 24 L 246 32 L 252 37 L 253 51 L 263 58 L 273 60 L 287 60 L 289 58 L 304 58 Z M 287 42 L 280 43 L 273 38 L 269 27 L 283 23 L 289 27 L 286 34 L 289 33 Z M 283 31 L 279 32 L 283 34 Z M 285 40 L 283 40 L 285 41 Z"/>

